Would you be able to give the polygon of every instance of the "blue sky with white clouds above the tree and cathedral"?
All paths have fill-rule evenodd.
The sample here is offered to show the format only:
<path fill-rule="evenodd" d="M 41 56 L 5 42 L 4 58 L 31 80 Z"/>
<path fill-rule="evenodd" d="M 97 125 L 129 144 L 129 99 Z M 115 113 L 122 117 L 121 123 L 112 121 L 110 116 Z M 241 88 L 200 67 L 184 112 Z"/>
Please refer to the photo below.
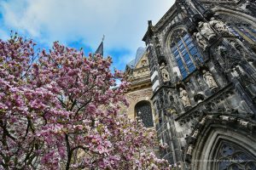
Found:
<path fill-rule="evenodd" d="M 125 70 L 142 38 L 148 20 L 155 25 L 174 0 L 1 0 L 0 38 L 10 31 L 32 38 L 39 48 L 59 41 L 69 47 L 95 52 L 104 39 L 104 55 L 113 67 Z"/>

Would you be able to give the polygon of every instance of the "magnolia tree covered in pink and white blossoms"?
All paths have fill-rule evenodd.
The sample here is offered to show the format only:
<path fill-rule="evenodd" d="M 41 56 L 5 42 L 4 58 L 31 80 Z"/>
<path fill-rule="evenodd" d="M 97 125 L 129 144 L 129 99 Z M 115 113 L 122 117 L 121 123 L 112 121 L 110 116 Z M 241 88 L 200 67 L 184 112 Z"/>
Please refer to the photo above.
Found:
<path fill-rule="evenodd" d="M 154 132 L 120 112 L 128 83 L 111 58 L 34 48 L 0 40 L 0 169 L 169 168 L 147 151 Z"/>

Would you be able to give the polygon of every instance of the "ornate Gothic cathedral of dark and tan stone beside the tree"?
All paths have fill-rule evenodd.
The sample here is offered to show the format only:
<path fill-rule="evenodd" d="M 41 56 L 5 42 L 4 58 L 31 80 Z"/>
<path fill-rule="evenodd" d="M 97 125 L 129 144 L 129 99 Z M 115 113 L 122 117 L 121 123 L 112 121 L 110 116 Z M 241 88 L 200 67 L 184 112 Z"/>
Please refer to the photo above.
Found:
<path fill-rule="evenodd" d="M 131 118 L 182 169 L 256 169 L 256 2 L 176 0 L 126 65 Z"/>

